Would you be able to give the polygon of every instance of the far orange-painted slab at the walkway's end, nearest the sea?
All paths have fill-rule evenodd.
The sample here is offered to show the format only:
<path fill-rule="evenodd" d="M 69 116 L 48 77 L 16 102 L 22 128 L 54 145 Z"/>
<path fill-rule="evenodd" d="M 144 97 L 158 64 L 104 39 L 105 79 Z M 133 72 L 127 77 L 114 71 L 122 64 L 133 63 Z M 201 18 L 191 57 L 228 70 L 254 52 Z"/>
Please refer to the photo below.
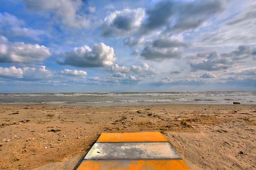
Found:
<path fill-rule="evenodd" d="M 102 133 L 96 143 L 167 142 L 160 132 Z"/>

